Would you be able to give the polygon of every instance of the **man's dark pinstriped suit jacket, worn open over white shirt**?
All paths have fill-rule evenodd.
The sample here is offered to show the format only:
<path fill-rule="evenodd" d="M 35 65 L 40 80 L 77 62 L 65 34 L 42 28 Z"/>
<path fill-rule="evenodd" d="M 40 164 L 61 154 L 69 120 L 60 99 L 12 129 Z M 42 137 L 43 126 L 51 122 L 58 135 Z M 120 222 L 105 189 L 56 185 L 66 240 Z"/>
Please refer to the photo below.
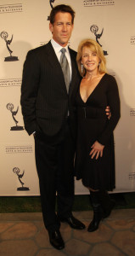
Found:
<path fill-rule="evenodd" d="M 51 42 L 31 49 L 26 56 L 20 103 L 25 130 L 29 135 L 38 130 L 48 136 L 56 135 L 65 122 L 68 110 L 71 123 L 74 124 L 74 102 L 80 75 L 76 65 L 76 51 L 69 50 L 72 67 L 69 95 Z"/>

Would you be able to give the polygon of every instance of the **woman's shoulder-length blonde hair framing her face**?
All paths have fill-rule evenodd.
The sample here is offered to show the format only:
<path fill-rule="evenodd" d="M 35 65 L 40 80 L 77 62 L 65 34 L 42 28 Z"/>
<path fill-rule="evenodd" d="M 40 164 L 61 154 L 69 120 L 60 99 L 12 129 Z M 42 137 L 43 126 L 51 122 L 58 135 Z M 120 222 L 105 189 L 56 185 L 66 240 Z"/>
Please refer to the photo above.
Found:
<path fill-rule="evenodd" d="M 99 73 L 106 73 L 106 59 L 104 57 L 104 52 L 103 49 L 100 47 L 100 45 L 93 39 L 84 39 L 78 46 L 77 50 L 77 56 L 76 56 L 76 61 L 79 69 L 79 73 L 81 74 L 82 77 L 85 76 L 86 74 L 86 69 L 83 67 L 82 71 L 82 48 L 87 47 L 92 50 L 92 52 L 96 53 L 100 62 L 98 65 L 98 72 Z"/>

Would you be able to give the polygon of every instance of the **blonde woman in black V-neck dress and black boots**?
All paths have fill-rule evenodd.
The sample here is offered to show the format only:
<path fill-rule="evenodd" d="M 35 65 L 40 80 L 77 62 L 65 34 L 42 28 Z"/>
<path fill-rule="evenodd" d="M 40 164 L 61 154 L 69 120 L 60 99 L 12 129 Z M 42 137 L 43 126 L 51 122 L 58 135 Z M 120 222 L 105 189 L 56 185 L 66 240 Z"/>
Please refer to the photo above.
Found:
<path fill-rule="evenodd" d="M 76 95 L 76 179 L 82 178 L 90 191 L 93 220 L 87 231 L 93 232 L 114 207 L 107 191 L 115 188 L 113 131 L 120 119 L 120 99 L 115 78 L 106 73 L 104 53 L 96 41 L 83 40 L 76 61 L 82 75 Z M 106 106 L 110 106 L 110 119 Z"/>

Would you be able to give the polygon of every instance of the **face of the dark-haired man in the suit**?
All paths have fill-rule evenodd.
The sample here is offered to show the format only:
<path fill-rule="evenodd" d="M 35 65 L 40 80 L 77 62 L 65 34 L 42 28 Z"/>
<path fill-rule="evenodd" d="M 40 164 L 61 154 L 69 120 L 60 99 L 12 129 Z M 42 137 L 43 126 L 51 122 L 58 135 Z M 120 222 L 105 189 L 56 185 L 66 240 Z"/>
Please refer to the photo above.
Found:
<path fill-rule="evenodd" d="M 49 24 L 49 29 L 53 33 L 53 40 L 65 47 L 71 36 L 73 24 L 69 13 L 57 13 L 53 24 Z"/>

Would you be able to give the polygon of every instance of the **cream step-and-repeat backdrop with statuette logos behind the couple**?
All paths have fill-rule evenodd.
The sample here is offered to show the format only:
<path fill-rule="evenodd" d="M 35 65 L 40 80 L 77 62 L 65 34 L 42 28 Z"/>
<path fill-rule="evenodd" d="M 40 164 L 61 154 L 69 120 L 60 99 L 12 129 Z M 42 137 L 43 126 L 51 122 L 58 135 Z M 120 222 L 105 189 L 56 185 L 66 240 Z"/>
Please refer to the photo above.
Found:
<path fill-rule="evenodd" d="M 76 11 L 70 48 L 93 38 L 104 49 L 117 80 L 121 119 L 115 129 L 114 192 L 135 191 L 135 2 L 134 0 L 1 0 L 0 2 L 0 195 L 39 195 L 34 139 L 25 131 L 20 108 L 23 63 L 28 50 L 51 39 L 54 5 Z M 81 181 L 76 194 L 87 194 Z"/>

